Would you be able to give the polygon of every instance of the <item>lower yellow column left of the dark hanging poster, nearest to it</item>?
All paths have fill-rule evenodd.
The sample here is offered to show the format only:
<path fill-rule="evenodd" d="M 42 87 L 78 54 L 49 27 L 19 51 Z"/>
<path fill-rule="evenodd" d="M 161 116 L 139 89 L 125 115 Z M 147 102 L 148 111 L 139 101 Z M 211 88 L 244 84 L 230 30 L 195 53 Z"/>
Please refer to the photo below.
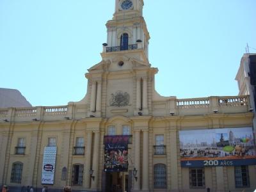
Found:
<path fill-rule="evenodd" d="M 93 146 L 93 162 L 92 170 L 94 180 L 92 179 L 92 188 L 98 189 L 98 175 L 99 175 L 99 145 L 100 145 L 100 132 L 94 133 L 94 146 Z"/>

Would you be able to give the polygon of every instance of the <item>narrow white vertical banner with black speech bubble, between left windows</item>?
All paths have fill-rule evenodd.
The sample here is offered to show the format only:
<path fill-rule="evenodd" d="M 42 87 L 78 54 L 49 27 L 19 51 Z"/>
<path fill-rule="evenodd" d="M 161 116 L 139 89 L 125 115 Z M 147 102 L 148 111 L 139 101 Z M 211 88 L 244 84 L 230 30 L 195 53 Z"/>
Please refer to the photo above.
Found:
<path fill-rule="evenodd" d="M 45 147 L 42 167 L 42 184 L 54 184 L 57 147 Z"/>

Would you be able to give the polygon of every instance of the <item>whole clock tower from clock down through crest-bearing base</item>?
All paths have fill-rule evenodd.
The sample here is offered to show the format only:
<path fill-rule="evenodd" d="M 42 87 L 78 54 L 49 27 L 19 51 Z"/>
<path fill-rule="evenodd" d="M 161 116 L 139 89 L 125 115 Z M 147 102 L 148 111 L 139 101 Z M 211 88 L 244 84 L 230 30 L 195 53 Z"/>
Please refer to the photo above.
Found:
<path fill-rule="evenodd" d="M 102 61 L 88 69 L 88 92 L 81 102 L 90 103 L 88 116 L 151 115 L 152 85 L 157 68 L 148 61 L 147 25 L 143 0 L 115 0 L 108 20 Z"/>

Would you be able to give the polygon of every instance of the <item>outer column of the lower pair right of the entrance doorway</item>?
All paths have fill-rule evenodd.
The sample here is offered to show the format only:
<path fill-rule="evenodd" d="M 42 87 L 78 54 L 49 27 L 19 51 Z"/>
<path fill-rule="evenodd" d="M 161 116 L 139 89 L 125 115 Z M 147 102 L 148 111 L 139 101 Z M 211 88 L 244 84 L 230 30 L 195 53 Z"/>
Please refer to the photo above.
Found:
<path fill-rule="evenodd" d="M 148 131 L 143 131 L 142 190 L 148 191 Z"/>

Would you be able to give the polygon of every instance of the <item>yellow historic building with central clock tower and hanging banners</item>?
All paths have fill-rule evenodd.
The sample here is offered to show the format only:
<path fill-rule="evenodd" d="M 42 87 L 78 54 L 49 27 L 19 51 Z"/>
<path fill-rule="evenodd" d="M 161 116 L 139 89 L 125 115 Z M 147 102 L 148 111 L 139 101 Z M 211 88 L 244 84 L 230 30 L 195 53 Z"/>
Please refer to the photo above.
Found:
<path fill-rule="evenodd" d="M 144 2 L 115 2 L 102 61 L 86 73 L 84 99 L 0 109 L 0 184 L 12 191 L 253 191 L 248 95 L 159 95 Z M 236 145 L 228 143 L 233 139 Z"/>

